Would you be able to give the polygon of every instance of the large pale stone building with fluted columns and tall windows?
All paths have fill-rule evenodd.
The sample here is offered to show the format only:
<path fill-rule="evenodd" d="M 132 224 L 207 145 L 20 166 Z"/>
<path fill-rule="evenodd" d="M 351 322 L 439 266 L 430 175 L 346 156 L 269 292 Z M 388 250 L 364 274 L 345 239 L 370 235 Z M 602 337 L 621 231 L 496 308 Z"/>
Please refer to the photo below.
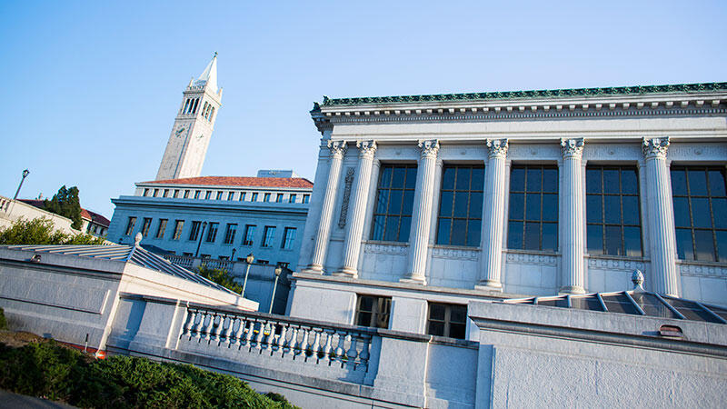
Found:
<path fill-rule="evenodd" d="M 725 97 L 326 97 L 290 314 L 466 337 L 470 301 L 622 291 L 636 269 L 727 304 Z"/>

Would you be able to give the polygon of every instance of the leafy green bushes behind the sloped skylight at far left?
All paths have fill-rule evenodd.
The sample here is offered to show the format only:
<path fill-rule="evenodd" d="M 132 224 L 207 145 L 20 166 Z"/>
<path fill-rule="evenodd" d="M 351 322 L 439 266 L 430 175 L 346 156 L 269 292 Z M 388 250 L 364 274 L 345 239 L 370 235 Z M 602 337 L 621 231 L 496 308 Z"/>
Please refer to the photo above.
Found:
<path fill-rule="evenodd" d="M 0 245 L 12 244 L 104 244 L 105 240 L 91 234 L 65 234 L 55 230 L 45 217 L 20 219 L 9 227 L 0 228 Z"/>

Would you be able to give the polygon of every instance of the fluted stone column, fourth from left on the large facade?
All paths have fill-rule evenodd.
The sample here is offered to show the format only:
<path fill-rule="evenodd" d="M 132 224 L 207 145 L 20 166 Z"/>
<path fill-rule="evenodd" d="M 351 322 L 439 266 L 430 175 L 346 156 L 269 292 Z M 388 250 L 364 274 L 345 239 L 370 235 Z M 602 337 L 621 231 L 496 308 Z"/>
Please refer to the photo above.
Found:
<path fill-rule="evenodd" d="M 479 290 L 503 291 L 503 229 L 505 218 L 505 157 L 507 139 L 487 140 L 487 166 L 484 168 L 482 271 Z"/>

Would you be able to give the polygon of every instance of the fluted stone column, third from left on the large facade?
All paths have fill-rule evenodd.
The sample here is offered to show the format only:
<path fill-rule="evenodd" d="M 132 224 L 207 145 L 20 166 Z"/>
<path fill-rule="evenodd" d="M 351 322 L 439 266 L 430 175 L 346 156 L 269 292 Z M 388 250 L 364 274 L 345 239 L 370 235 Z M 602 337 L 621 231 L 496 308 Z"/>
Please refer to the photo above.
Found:
<path fill-rule="evenodd" d="M 439 140 L 419 141 L 422 159 L 419 161 L 417 187 L 419 195 L 414 197 L 412 233 L 409 237 L 409 271 L 400 281 L 403 283 L 426 284 L 426 256 L 429 247 L 429 228 L 432 224 L 432 202 L 434 194 L 434 170 L 439 152 Z"/>

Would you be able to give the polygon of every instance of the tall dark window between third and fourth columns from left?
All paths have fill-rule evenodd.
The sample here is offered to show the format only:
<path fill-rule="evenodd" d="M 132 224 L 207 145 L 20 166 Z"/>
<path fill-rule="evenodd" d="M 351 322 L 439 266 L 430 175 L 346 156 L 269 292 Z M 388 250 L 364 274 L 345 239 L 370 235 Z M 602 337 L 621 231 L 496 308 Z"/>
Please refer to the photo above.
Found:
<path fill-rule="evenodd" d="M 480 245 L 483 185 L 483 166 L 444 166 L 437 244 Z"/>

